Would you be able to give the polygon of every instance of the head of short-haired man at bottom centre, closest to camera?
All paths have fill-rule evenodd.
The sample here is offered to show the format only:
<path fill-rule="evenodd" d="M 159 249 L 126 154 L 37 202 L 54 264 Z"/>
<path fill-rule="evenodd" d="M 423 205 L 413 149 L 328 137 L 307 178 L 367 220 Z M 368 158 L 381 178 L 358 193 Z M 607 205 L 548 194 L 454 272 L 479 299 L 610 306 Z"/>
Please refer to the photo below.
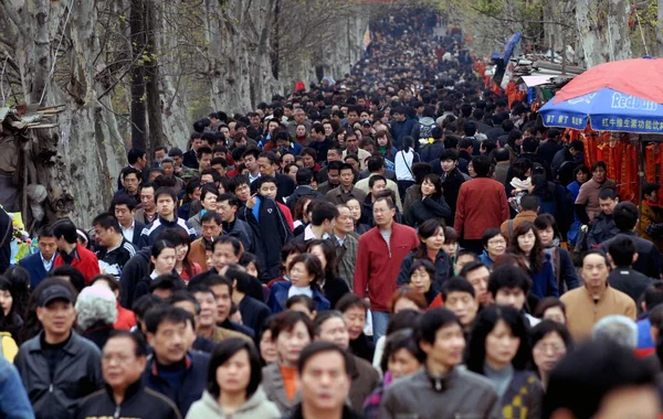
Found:
<path fill-rule="evenodd" d="M 302 404 L 312 411 L 343 409 L 352 382 L 350 355 L 330 342 L 314 342 L 299 356 Z"/>

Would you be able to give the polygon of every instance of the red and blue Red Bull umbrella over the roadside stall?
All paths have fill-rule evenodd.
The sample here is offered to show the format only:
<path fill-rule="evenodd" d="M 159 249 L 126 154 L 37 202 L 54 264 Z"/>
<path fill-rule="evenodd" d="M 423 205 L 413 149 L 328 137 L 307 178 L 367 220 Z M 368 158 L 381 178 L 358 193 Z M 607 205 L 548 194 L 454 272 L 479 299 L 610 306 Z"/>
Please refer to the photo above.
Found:
<path fill-rule="evenodd" d="M 573 78 L 539 109 L 547 127 L 663 133 L 663 60 L 600 64 Z"/>

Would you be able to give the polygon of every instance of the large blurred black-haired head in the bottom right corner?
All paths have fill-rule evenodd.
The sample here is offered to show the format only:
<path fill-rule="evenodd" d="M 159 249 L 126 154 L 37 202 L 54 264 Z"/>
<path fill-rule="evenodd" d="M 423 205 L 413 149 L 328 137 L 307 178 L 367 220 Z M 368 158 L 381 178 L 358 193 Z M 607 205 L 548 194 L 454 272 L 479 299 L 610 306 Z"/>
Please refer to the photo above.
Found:
<path fill-rule="evenodd" d="M 612 342 L 588 342 L 550 374 L 543 418 L 656 418 L 656 378 L 644 359 Z"/>

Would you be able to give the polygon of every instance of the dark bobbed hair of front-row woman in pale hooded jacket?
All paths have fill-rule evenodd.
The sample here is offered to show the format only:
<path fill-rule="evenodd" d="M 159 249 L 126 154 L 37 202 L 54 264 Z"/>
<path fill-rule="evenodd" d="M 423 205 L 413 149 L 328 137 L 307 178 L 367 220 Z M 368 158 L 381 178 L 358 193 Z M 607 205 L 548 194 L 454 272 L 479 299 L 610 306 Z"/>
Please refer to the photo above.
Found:
<path fill-rule="evenodd" d="M 246 386 L 246 399 L 251 398 L 257 390 L 260 383 L 262 382 L 262 364 L 260 362 L 260 355 L 255 350 L 255 345 L 251 342 L 239 337 L 224 339 L 218 343 L 212 353 L 210 354 L 210 361 L 208 365 L 207 376 L 207 390 L 219 398 L 221 388 L 217 382 L 217 369 L 225 364 L 231 357 L 233 357 L 240 351 L 246 351 L 249 355 L 249 364 L 251 365 L 251 378 Z"/>

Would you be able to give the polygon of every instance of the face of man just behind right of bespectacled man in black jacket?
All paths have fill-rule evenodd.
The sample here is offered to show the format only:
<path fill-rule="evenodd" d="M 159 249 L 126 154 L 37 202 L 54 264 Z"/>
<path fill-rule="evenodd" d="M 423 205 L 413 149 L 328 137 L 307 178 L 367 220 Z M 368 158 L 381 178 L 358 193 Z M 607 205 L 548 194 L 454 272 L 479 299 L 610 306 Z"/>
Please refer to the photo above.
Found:
<path fill-rule="evenodd" d="M 147 333 L 147 340 L 160 364 L 172 365 L 185 358 L 190 344 L 189 329 L 187 322 L 164 321 L 156 333 Z"/>

